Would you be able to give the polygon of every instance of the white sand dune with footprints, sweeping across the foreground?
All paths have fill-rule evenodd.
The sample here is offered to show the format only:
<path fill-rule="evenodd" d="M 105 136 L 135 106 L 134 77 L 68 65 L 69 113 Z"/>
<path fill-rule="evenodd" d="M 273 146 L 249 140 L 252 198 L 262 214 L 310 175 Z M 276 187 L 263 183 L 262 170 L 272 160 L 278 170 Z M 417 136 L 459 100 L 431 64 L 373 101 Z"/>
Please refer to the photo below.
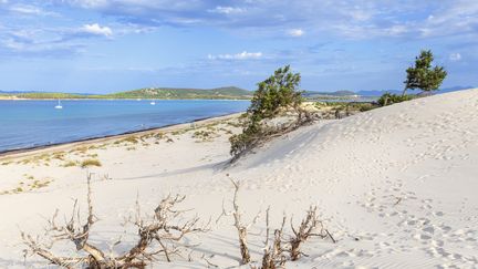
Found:
<path fill-rule="evenodd" d="M 220 127 L 230 126 L 215 126 Z M 92 240 L 116 238 L 122 227 L 115 223 L 133 210 L 136 194 L 143 210 L 153 209 L 168 193 L 185 194 L 184 208 L 194 208 L 205 220 L 216 219 L 222 200 L 231 198 L 232 186 L 226 177 L 230 174 L 242 182 L 240 205 L 247 210 L 246 220 L 271 206 L 271 223 L 277 226 L 283 213 L 299 221 L 310 205 L 319 206 L 337 242 L 308 241 L 304 252 L 309 257 L 289 262 L 288 268 L 478 267 L 478 90 L 320 122 L 229 168 L 224 168 L 229 158 L 226 132 L 201 143 L 191 134 L 169 135 L 174 143 L 139 143 L 134 151 L 111 144 L 107 149 L 87 152 L 98 154 L 103 164 L 90 168 L 101 218 Z M 70 155 L 66 158 L 82 158 Z M 55 208 L 69 214 L 72 198 L 84 200 L 86 169 L 59 167 L 62 163 L 0 165 L 0 192 L 32 180 L 25 179 L 30 175 L 53 179 L 32 192 L 0 195 L 1 268 L 23 267 L 18 227 L 41 232 L 44 218 Z M 104 179 L 105 175 L 111 179 Z M 194 247 L 194 262 L 178 258 L 173 265 L 154 267 L 202 268 L 201 254 L 221 268 L 239 266 L 231 224 L 221 218 L 210 232 L 191 237 L 193 242 L 200 242 Z M 263 228 L 261 220 L 251 230 L 253 260 L 261 257 Z M 128 241 L 117 250 L 127 246 Z M 45 265 L 38 258 L 29 262 Z"/>

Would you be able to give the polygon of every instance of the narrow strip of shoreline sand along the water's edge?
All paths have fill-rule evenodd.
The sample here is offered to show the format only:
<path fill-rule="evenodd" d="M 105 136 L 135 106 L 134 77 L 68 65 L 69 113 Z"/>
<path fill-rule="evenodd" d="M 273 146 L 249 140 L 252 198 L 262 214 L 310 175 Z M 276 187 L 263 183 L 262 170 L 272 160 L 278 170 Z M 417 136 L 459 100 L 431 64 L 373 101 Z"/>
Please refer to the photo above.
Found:
<path fill-rule="evenodd" d="M 118 138 L 124 138 L 131 135 L 146 135 L 149 133 L 158 132 L 158 131 L 166 131 L 166 132 L 175 132 L 183 128 L 190 127 L 191 124 L 195 124 L 195 127 L 201 127 L 204 125 L 220 122 L 220 121 L 227 121 L 235 117 L 240 116 L 245 112 L 237 112 L 237 113 L 230 113 L 225 114 L 220 116 L 210 116 L 210 117 L 201 117 L 184 123 L 177 123 L 177 124 L 168 124 L 160 127 L 152 127 L 141 131 L 129 131 L 126 133 L 115 134 L 115 135 L 106 135 L 106 136 L 98 136 L 98 137 L 90 137 L 84 139 L 77 139 L 77 141 L 71 141 L 71 142 L 62 142 L 62 143 L 54 143 L 49 145 L 40 145 L 40 146 L 33 146 L 28 148 L 19 148 L 19 149 L 9 149 L 6 152 L 0 152 L 0 159 L 9 159 L 9 158 L 17 158 L 17 157 L 25 157 L 39 153 L 48 153 L 50 151 L 65 151 L 70 149 L 72 147 L 76 146 L 84 146 L 84 145 L 93 145 L 101 142 L 111 142 Z"/>

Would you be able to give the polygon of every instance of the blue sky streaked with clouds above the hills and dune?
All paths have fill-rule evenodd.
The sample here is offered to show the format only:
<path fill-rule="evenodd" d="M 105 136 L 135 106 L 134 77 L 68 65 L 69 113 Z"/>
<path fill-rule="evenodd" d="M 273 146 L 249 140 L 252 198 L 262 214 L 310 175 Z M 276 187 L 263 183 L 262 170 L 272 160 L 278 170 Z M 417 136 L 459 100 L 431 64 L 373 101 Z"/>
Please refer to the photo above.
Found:
<path fill-rule="evenodd" d="M 0 91 L 401 90 L 422 49 L 478 86 L 478 1 L 0 0 Z"/>

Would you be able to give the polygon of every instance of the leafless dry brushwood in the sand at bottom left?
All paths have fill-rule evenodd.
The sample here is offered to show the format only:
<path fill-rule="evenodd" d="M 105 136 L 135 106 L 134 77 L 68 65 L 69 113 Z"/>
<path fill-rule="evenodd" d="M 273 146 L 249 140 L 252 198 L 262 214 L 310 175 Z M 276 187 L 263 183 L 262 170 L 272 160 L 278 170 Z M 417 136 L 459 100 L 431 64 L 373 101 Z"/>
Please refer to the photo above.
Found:
<path fill-rule="evenodd" d="M 114 255 L 101 249 L 90 240 L 93 225 L 97 221 L 93 213 L 91 175 L 87 177 L 87 217 L 82 224 L 77 201 L 74 203 L 73 213 L 63 225 L 56 223 L 56 210 L 51 220 L 48 221 L 46 239 L 33 237 L 21 232 L 23 242 L 27 245 L 25 256 L 38 255 L 52 265 L 63 268 L 86 267 L 91 269 L 105 268 L 145 268 L 153 261 L 172 261 L 172 257 L 180 255 L 180 244 L 190 234 L 207 231 L 207 225 L 199 226 L 199 218 L 183 219 L 181 210 L 176 206 L 184 201 L 185 196 L 167 196 L 155 208 L 153 217 L 146 219 L 141 214 L 138 201 L 136 201 L 136 214 L 132 224 L 137 228 L 137 241 L 129 250 L 122 255 Z M 48 241 L 48 242 L 46 242 Z M 56 242 L 73 242 L 77 257 L 63 257 L 53 252 Z M 116 246 L 121 241 L 114 242 Z M 184 245 L 184 244 L 181 244 Z"/>

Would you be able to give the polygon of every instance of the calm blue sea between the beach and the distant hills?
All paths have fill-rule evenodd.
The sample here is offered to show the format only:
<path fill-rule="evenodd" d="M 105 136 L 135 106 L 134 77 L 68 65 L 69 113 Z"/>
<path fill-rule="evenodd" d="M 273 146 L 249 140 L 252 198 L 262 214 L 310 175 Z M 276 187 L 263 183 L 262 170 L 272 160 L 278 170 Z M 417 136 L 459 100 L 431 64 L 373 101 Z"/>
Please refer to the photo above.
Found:
<path fill-rule="evenodd" d="M 246 111 L 249 101 L 0 101 L 0 152 L 186 123 Z"/>

